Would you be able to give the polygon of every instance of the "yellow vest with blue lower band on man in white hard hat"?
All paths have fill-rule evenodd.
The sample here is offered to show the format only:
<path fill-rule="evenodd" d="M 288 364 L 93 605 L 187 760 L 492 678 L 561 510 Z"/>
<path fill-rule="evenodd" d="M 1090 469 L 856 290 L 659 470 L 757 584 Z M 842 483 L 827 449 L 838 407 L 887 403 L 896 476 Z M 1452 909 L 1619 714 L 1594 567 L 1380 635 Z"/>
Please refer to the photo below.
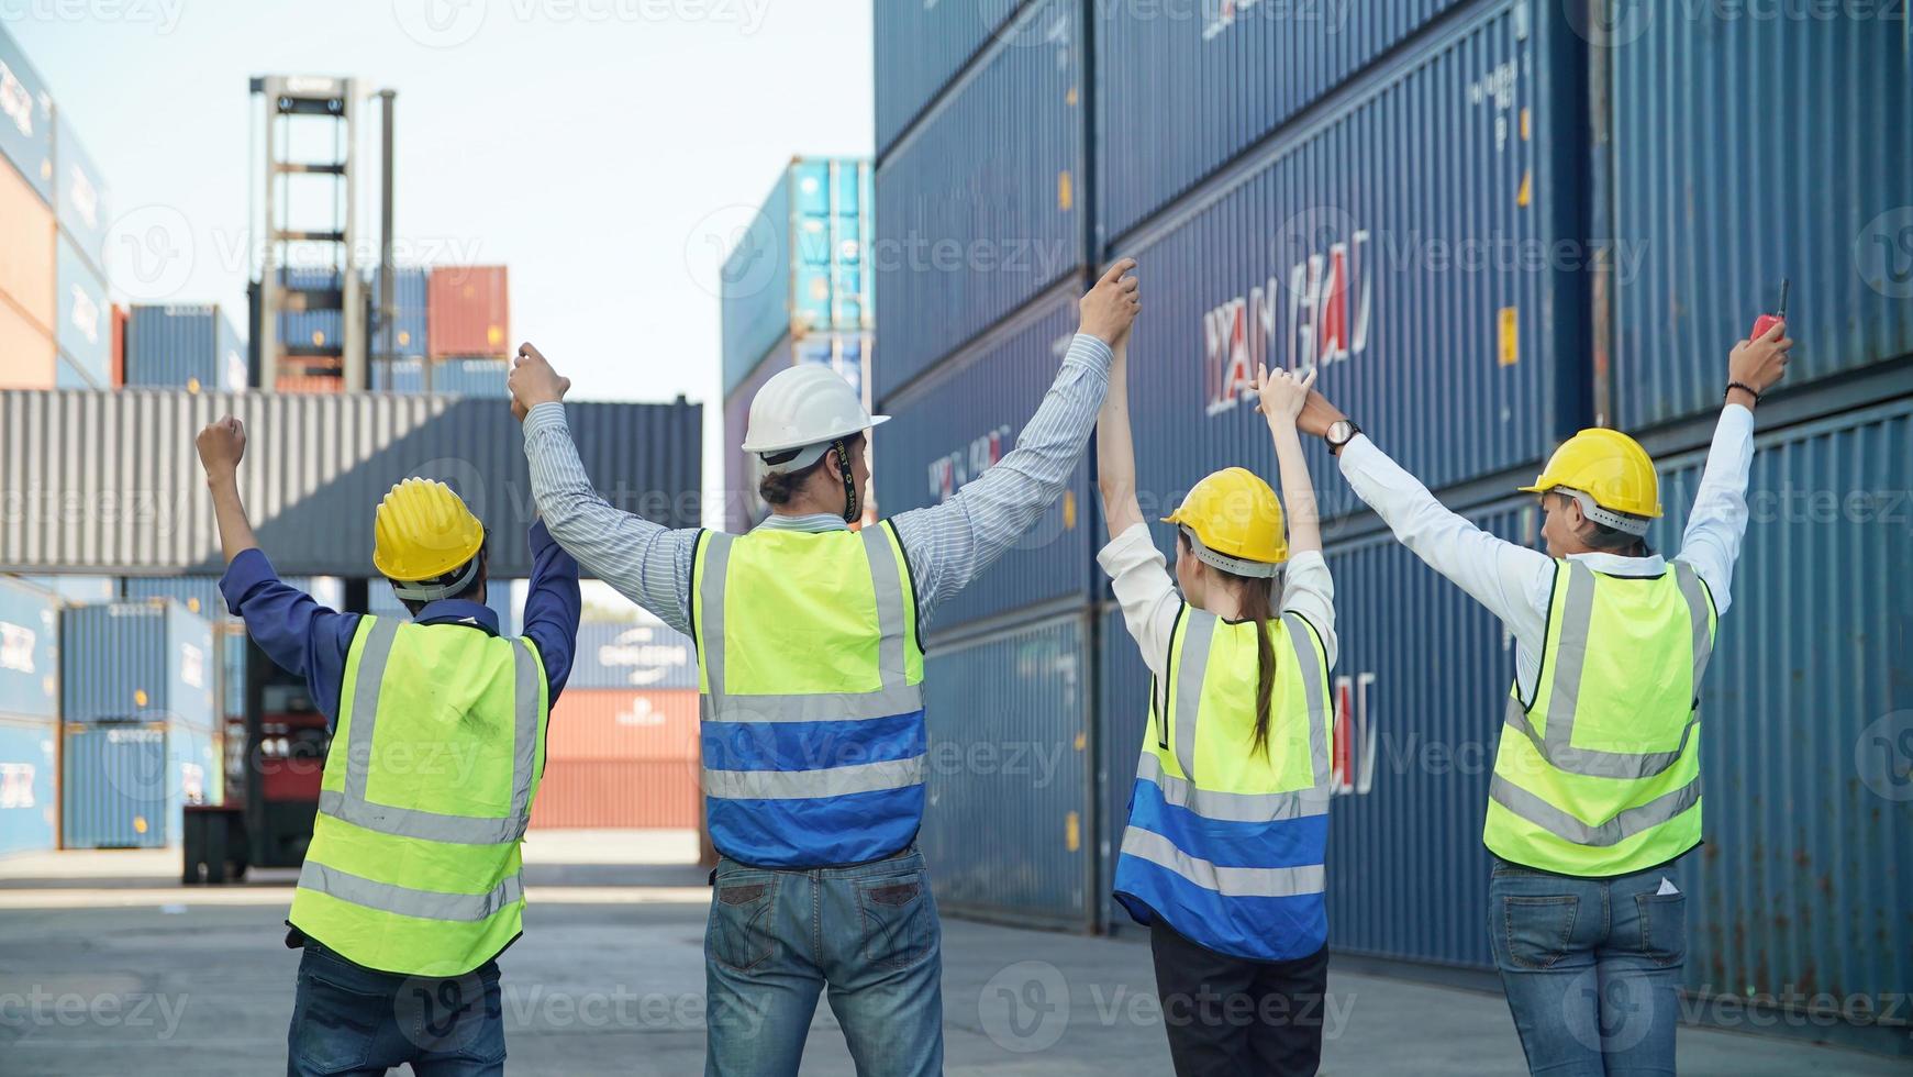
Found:
<path fill-rule="evenodd" d="M 704 532 L 693 564 L 717 851 L 811 868 L 907 847 L 924 815 L 924 654 L 895 530 Z"/>

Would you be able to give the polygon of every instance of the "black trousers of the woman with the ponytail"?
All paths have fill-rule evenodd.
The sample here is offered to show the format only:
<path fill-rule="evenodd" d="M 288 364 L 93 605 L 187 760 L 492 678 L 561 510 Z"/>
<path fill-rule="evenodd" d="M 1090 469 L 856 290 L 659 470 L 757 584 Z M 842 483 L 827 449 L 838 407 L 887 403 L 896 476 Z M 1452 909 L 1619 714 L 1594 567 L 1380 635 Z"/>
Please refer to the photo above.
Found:
<path fill-rule="evenodd" d="M 1328 947 L 1295 960 L 1251 960 L 1150 928 L 1155 997 L 1178 1077 L 1308 1075 L 1322 1064 Z"/>

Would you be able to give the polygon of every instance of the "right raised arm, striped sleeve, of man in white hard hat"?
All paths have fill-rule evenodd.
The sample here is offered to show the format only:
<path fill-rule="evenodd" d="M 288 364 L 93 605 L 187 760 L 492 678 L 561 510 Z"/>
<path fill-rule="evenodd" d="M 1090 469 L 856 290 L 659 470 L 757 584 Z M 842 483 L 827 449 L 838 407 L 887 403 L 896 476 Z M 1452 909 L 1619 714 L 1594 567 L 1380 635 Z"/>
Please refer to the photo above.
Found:
<path fill-rule="evenodd" d="M 1110 385 L 1110 342 L 1142 310 L 1134 260 L 1121 260 L 1081 300 L 1083 321 L 1064 367 L 1016 448 L 941 505 L 899 513 L 891 522 L 911 555 L 926 616 L 964 589 L 1037 522 L 1075 471 Z"/>

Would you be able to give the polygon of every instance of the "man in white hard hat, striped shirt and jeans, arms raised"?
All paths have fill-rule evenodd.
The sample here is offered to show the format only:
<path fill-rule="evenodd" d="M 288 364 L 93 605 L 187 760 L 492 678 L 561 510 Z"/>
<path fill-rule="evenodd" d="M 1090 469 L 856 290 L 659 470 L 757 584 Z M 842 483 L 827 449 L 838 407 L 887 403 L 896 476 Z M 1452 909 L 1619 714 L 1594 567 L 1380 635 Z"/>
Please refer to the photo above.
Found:
<path fill-rule="evenodd" d="M 698 645 L 702 767 L 721 853 L 706 955 L 706 1073 L 796 1073 L 817 997 L 857 1073 L 943 1069 L 941 928 L 916 851 L 924 624 L 1062 497 L 1140 310 L 1134 262 L 1083 297 L 1062 371 L 1016 448 L 941 505 L 861 532 L 869 415 L 821 365 L 773 377 L 744 450 L 771 517 L 750 534 L 666 530 L 593 490 L 561 379 L 524 344 L 511 373 L 532 492 L 595 576 Z M 1029 362 L 1043 362 L 1035 352 Z"/>

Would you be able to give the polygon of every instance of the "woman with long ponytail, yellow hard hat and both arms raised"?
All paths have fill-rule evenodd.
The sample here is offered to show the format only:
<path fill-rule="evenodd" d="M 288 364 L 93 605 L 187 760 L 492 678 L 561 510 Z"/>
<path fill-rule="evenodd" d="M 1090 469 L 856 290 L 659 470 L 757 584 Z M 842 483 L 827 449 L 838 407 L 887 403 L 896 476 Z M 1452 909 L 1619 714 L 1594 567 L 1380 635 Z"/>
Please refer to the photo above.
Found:
<path fill-rule="evenodd" d="M 1178 1075 L 1314 1073 L 1335 664 L 1335 587 L 1295 432 L 1314 373 L 1257 371 L 1282 499 L 1242 467 L 1198 482 L 1163 520 L 1171 580 L 1136 501 L 1127 352 L 1119 341 L 1096 425 L 1111 536 L 1096 560 L 1152 677 L 1115 897 L 1150 928 Z"/>

